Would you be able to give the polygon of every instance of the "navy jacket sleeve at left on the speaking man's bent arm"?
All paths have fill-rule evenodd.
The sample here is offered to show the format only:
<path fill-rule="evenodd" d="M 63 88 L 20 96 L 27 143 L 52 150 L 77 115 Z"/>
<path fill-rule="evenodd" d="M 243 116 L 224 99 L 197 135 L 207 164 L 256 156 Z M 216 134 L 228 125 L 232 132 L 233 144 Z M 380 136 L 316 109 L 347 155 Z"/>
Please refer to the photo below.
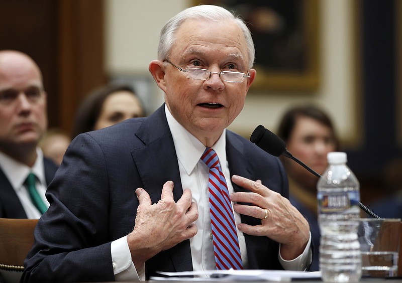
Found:
<path fill-rule="evenodd" d="M 107 166 L 92 137 L 73 140 L 46 197 L 51 205 L 35 229 L 21 282 L 114 281 Z"/>

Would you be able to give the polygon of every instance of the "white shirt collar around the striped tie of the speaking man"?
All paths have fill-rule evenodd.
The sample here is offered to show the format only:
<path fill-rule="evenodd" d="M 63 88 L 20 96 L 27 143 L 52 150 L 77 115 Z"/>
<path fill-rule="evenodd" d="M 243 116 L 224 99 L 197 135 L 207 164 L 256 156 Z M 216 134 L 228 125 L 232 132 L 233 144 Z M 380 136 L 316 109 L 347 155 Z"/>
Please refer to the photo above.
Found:
<path fill-rule="evenodd" d="M 177 159 L 189 175 L 195 168 L 199 159 L 203 155 L 206 147 L 195 136 L 189 133 L 177 120 L 172 116 L 167 105 L 165 104 L 165 113 L 170 132 L 173 136 L 174 148 L 176 150 Z M 217 153 L 221 166 L 226 165 L 226 129 L 223 130 L 218 141 L 212 147 Z M 225 162 L 225 164 L 223 164 Z"/>

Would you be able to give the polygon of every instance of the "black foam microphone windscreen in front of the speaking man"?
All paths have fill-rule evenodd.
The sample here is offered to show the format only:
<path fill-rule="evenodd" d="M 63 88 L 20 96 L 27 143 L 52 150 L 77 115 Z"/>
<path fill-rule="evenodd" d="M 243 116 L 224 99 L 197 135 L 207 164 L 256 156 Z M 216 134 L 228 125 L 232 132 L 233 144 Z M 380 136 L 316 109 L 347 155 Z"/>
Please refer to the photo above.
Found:
<path fill-rule="evenodd" d="M 250 141 L 273 156 L 280 156 L 286 151 L 285 142 L 263 125 L 255 128 L 250 136 Z"/>

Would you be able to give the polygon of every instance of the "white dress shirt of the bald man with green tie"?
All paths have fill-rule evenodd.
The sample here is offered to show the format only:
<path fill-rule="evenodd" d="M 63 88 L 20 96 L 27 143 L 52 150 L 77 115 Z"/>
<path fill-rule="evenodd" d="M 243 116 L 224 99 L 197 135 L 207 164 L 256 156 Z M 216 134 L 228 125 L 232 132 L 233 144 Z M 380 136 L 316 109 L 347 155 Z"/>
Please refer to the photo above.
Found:
<path fill-rule="evenodd" d="M 27 190 L 25 180 L 29 173 L 34 173 L 36 176 L 36 190 L 38 191 L 43 202 L 49 207 L 49 202 L 45 197 L 46 193 L 46 179 L 45 179 L 45 165 L 43 163 L 43 153 L 40 148 L 36 149 L 37 158 L 34 166 L 31 168 L 21 162 L 12 159 L 10 156 L 0 152 L 0 168 L 3 170 L 7 179 L 9 179 L 11 186 L 17 193 L 18 198 L 27 214 L 29 219 L 39 219 L 42 213 L 32 203 L 31 197 Z"/>

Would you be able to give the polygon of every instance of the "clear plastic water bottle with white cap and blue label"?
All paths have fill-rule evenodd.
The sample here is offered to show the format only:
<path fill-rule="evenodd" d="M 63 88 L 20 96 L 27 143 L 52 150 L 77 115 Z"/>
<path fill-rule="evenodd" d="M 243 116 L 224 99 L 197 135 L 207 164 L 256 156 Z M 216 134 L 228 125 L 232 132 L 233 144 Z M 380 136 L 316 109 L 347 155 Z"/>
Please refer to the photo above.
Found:
<path fill-rule="evenodd" d="M 329 167 L 317 183 L 320 270 L 325 282 L 357 282 L 361 277 L 359 182 L 346 153 L 328 153 Z"/>

